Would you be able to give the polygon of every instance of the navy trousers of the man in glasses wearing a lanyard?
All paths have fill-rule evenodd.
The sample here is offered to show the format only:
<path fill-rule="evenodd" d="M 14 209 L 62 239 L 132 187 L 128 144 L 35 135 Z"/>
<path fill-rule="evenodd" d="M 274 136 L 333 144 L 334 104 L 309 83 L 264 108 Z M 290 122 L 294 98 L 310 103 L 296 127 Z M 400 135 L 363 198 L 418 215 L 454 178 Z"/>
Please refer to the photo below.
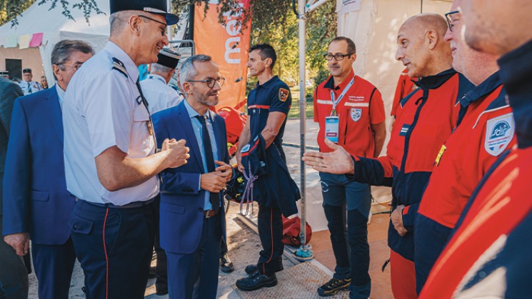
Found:
<path fill-rule="evenodd" d="M 368 298 L 370 188 L 343 175 L 320 173 L 320 178 L 323 211 L 336 259 L 333 278 L 351 278 L 351 298 Z"/>

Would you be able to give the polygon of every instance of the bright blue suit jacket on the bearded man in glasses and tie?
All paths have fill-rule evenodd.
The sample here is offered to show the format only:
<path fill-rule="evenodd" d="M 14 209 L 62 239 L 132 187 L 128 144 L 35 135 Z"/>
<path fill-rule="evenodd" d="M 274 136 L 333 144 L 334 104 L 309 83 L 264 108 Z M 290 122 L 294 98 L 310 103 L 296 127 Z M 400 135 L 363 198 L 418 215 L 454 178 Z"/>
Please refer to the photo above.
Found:
<path fill-rule="evenodd" d="M 205 173 L 199 145 L 194 135 L 184 101 L 153 116 L 157 147 L 166 138 L 185 139 L 190 148 L 189 161 L 179 168 L 167 168 L 161 173 L 161 247 L 172 253 L 193 253 L 199 246 L 204 223 L 205 191 L 198 188 L 201 173 Z M 226 123 L 216 115 L 214 136 L 219 157 L 229 163 Z M 224 195 L 220 193 L 222 233 L 225 229 Z"/>

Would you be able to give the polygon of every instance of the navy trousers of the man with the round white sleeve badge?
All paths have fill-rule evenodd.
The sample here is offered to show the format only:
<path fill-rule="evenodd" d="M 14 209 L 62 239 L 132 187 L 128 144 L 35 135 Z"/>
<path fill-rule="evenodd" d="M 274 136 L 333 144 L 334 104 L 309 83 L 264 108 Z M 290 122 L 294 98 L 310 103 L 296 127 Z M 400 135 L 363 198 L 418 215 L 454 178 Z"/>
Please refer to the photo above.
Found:
<path fill-rule="evenodd" d="M 428 273 L 438 260 L 443 248 L 447 244 L 451 228 L 441 225 L 431 218 L 418 213 L 414 223 L 413 263 L 416 266 L 416 293 L 421 292 L 425 285 Z"/>

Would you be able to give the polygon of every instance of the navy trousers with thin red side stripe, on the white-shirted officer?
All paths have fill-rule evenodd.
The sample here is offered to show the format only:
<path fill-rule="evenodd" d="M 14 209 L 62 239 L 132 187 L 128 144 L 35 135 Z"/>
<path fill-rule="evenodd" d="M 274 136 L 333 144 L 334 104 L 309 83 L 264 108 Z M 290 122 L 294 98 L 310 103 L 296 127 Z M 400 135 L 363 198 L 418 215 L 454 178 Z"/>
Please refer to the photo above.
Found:
<path fill-rule="evenodd" d="M 78 201 L 69 220 L 86 298 L 144 298 L 155 238 L 154 205 L 105 208 Z"/>

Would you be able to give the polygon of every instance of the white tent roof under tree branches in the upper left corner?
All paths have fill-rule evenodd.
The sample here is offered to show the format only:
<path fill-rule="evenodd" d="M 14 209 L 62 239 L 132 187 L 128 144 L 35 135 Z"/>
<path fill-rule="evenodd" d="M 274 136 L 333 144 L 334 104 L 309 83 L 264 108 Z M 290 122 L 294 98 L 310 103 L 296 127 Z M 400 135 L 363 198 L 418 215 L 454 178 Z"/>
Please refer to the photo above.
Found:
<path fill-rule="evenodd" d="M 96 0 L 98 8 L 104 14 L 95 14 L 94 11 L 87 23 L 83 11 L 71 8 L 74 20 L 67 19 L 62 14 L 59 5 L 51 8 L 51 4 L 35 4 L 19 16 L 19 25 L 11 27 L 8 22 L 0 26 L 0 41 L 6 41 L 8 36 L 21 36 L 25 34 L 43 33 L 42 45 L 39 47 L 46 77 L 53 83 L 54 76 L 51 72 L 50 56 L 54 45 L 62 39 L 81 39 L 88 42 L 96 51 L 103 49 L 109 39 L 109 0 Z M 0 44 L 4 46 L 4 44 Z M 0 48 L 0 54 L 4 49 Z M 6 49 L 8 50 L 8 49 Z M 0 55 L 4 56 L 4 55 Z"/>

